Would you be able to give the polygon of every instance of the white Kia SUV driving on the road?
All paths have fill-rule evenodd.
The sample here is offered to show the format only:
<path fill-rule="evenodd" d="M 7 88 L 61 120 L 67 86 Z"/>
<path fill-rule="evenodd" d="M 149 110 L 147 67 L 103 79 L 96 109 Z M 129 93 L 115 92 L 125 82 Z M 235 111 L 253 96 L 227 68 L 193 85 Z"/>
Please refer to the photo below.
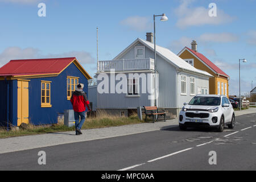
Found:
<path fill-rule="evenodd" d="M 232 104 L 226 96 L 197 95 L 189 104 L 184 103 L 180 111 L 179 126 L 181 130 L 187 127 L 215 127 L 222 132 L 224 125 L 234 128 L 235 115 Z"/>

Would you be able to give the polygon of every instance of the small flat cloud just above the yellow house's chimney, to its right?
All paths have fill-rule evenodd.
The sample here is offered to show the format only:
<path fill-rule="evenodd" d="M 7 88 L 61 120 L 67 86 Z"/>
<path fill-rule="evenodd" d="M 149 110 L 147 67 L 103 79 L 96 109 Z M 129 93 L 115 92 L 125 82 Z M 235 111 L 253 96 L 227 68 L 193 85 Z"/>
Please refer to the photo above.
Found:
<path fill-rule="evenodd" d="M 236 42 L 238 40 L 238 36 L 231 33 L 220 33 L 220 34 L 203 34 L 200 35 L 199 40 L 201 42 Z"/>

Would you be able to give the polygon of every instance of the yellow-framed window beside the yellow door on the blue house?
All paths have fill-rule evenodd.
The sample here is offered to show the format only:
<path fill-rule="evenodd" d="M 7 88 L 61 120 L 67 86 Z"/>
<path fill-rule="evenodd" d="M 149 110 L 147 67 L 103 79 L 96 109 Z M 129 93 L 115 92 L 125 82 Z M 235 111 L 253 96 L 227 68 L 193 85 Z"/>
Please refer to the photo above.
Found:
<path fill-rule="evenodd" d="M 41 81 L 41 107 L 51 106 L 51 81 Z"/>

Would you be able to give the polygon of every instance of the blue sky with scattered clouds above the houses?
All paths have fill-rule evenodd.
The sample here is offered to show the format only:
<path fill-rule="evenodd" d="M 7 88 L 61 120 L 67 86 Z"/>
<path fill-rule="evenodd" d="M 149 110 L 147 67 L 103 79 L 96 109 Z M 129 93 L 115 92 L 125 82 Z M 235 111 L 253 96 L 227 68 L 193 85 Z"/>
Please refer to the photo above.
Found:
<path fill-rule="evenodd" d="M 46 4 L 46 17 L 38 4 Z M 208 15 L 216 3 L 217 17 Z M 159 46 L 174 53 L 196 40 L 199 52 L 230 76 L 230 94 L 238 93 L 238 59 L 242 93 L 256 86 L 256 0 L 205 1 L 63 1 L 0 0 L 0 66 L 10 59 L 76 56 L 90 75 L 96 72 L 96 27 L 100 60 L 111 60 L 136 38 L 153 31 Z M 159 18 L 160 19 L 160 18 Z"/>

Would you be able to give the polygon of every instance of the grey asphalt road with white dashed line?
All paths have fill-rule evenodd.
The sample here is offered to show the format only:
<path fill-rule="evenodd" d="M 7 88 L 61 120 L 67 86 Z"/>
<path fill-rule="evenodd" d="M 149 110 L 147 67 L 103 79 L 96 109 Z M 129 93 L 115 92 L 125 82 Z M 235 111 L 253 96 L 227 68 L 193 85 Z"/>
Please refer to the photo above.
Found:
<path fill-rule="evenodd" d="M 46 165 L 39 165 L 39 151 Z M 210 151 L 217 164 L 209 164 Z M 256 170 L 256 114 L 234 129 L 148 133 L 0 154 L 0 170 Z"/>

